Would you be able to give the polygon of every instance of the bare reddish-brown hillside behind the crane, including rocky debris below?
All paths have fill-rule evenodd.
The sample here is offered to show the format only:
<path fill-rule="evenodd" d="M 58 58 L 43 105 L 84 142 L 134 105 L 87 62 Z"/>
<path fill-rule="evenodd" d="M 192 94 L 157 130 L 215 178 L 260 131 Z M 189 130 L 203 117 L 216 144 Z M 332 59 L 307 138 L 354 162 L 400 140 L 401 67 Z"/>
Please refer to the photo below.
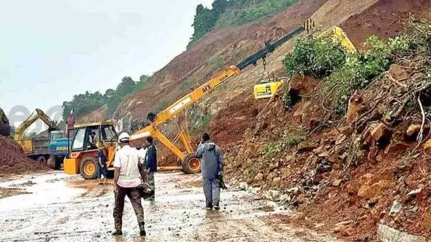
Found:
<path fill-rule="evenodd" d="M 430 8 L 429 1 L 421 0 L 297 1 L 273 17 L 205 35 L 156 73 L 153 78 L 158 79 L 152 80 L 151 85 L 125 100 L 116 117 L 135 122 L 138 127 L 147 112 L 157 111 L 186 93 L 184 86 L 191 88 L 214 75 L 217 68 L 208 59 L 222 59 L 223 66 L 234 64 L 241 59 L 233 55 L 237 53 L 234 50 L 252 53 L 262 46 L 262 39 L 276 39 L 309 17 L 318 23 L 320 30 L 330 25 L 340 26 L 358 49 L 365 51 L 363 42 L 369 35 L 383 39 L 399 35 L 405 31 L 405 20 L 410 13 L 430 18 Z M 268 58 L 267 68 L 286 75 L 282 60 L 293 49 L 293 43 L 290 41 L 275 50 Z M 401 73 L 407 77 L 414 75 L 408 69 Z M 392 76 L 398 74 L 395 70 L 391 72 Z M 381 236 L 400 234 L 387 225 L 412 234 L 429 235 L 429 192 L 424 187 L 428 187 L 431 167 L 426 161 L 429 153 L 422 152 L 428 136 L 424 133 L 425 140 L 418 147 L 404 138 L 410 124 L 420 123 L 419 106 L 413 107 L 414 115 L 409 115 L 412 108 L 398 113 L 406 118 L 401 124 L 389 125 L 394 132 L 389 145 L 377 149 L 354 148 L 359 153 L 353 162 L 349 161 L 349 152 L 347 155 L 342 152 L 354 147 L 360 131 L 347 123 L 345 115 L 332 115 L 322 108 L 320 101 L 324 97 L 319 81 L 295 77 L 291 85 L 299 86 L 304 99 L 285 111 L 282 95 L 270 104 L 267 100 L 253 99 L 252 86 L 261 75 L 259 66 L 248 68 L 190 111 L 192 127 L 210 131 L 223 149 L 231 183 L 245 181 L 262 187 L 263 191 L 278 190 L 277 197 L 274 192 L 264 192 L 262 196 L 282 201 L 300 212 L 299 216 L 280 217 L 279 223 L 332 231 L 348 241 L 378 241 Z M 373 99 L 378 93 L 372 90 L 378 91 L 379 85 L 371 86 L 369 93 L 364 93 L 359 100 L 378 105 Z M 362 112 L 358 114 L 361 118 L 369 115 Z M 370 120 L 365 125 L 376 128 L 378 118 L 370 117 Z M 197 134 L 194 140 L 199 140 Z M 293 145 L 280 148 L 279 142 Z M 414 152 L 414 147 L 418 152 Z M 401 204 L 398 216 L 392 215 L 394 204 Z"/>

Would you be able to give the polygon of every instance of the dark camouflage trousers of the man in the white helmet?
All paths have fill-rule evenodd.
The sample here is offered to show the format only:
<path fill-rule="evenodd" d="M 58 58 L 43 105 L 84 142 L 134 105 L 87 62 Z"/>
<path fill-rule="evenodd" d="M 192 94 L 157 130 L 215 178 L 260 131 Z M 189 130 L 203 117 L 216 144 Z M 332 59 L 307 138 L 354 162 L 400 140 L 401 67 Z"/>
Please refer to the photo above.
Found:
<path fill-rule="evenodd" d="M 118 192 L 114 193 L 116 203 L 113 207 L 113 221 L 116 230 L 121 230 L 122 227 L 122 212 L 125 208 L 125 197 L 130 200 L 131 206 L 135 210 L 136 218 L 138 218 L 139 227 L 144 225 L 144 209 L 140 203 L 140 194 L 137 187 L 120 187 Z"/>

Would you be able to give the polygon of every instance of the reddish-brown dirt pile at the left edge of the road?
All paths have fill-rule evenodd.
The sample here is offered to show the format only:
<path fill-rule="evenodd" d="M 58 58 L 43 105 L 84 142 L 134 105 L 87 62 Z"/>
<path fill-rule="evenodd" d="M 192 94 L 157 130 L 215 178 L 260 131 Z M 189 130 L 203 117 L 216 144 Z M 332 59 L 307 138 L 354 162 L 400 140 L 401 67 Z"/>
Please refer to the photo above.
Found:
<path fill-rule="evenodd" d="M 15 141 L 0 136 L 0 177 L 47 170 L 46 165 L 28 158 Z"/>

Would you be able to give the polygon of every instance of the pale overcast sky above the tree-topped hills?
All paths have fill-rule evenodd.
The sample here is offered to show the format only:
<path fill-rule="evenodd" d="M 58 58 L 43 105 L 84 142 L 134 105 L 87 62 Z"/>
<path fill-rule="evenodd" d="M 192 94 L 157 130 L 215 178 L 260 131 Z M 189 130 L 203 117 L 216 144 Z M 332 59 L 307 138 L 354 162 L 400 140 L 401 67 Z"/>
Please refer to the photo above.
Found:
<path fill-rule="evenodd" d="M 0 107 L 59 118 L 75 94 L 151 75 L 185 50 L 199 3 L 212 0 L 0 0 Z"/>

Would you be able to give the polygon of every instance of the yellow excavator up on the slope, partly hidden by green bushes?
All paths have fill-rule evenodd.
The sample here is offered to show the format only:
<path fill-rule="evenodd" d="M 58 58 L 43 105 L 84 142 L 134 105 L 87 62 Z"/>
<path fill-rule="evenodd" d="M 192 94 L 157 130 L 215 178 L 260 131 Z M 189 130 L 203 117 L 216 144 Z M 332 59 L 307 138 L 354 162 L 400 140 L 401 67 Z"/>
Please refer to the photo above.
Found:
<path fill-rule="evenodd" d="M 311 20 L 309 20 L 311 21 Z M 311 26 L 314 26 L 313 21 L 311 21 Z M 356 48 L 354 44 L 351 43 L 350 39 L 347 37 L 346 33 L 339 27 L 333 26 L 318 35 L 318 38 L 332 38 L 334 42 L 339 42 L 347 53 L 355 53 Z M 266 64 L 264 60 L 264 65 Z M 288 80 L 288 77 L 273 77 L 261 80 L 259 84 L 254 86 L 255 99 L 269 98 L 273 97 L 277 89 L 282 86 L 283 82 Z"/>

